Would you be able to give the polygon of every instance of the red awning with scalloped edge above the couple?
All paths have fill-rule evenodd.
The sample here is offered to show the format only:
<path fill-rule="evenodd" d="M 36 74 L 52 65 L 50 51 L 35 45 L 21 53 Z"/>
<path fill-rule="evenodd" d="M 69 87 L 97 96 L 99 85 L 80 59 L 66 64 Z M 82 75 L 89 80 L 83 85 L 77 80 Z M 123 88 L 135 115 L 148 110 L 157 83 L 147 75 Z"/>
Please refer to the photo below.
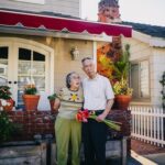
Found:
<path fill-rule="evenodd" d="M 110 36 L 124 35 L 131 37 L 132 28 L 119 24 L 89 22 L 78 19 L 67 19 L 42 14 L 0 10 L 0 26 L 18 26 L 26 29 L 45 29 L 50 31 L 68 31 L 70 33 L 88 32 L 90 34 L 106 33 Z"/>

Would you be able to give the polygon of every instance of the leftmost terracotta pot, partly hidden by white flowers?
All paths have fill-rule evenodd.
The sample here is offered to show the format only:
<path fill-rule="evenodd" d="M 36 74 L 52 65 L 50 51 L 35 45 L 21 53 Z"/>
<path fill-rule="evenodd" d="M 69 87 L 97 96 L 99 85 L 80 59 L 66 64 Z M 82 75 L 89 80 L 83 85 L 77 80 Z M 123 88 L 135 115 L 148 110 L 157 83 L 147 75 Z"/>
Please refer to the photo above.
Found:
<path fill-rule="evenodd" d="M 13 99 L 9 99 L 9 100 L 0 100 L 0 107 L 2 107 L 2 109 L 4 111 L 11 111 L 13 109 L 14 106 L 14 100 Z"/>

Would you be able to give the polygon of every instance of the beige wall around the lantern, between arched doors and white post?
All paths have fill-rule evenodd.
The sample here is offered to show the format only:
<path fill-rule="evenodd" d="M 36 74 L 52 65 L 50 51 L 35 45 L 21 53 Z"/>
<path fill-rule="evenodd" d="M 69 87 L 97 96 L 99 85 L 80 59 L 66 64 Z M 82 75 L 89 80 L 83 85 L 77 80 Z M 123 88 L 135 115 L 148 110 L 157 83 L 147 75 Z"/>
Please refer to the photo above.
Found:
<path fill-rule="evenodd" d="M 70 48 L 72 46 L 77 46 L 79 50 L 79 58 L 77 61 L 72 61 Z M 69 72 L 76 72 L 80 74 L 81 77 L 85 76 L 81 69 L 81 58 L 86 56 L 92 56 L 92 42 L 87 41 L 76 41 L 76 40 L 62 40 L 58 38 L 55 44 L 55 88 L 58 90 L 61 87 L 65 86 L 65 76 Z"/>

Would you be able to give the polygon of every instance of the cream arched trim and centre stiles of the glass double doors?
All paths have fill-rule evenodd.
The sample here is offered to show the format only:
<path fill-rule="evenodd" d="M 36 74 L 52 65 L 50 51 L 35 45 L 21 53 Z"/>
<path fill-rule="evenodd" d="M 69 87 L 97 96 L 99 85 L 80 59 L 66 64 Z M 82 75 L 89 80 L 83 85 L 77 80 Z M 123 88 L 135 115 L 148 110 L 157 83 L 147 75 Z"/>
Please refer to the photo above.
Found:
<path fill-rule="evenodd" d="M 14 62 L 14 59 L 18 58 L 18 56 L 16 56 L 18 51 L 19 51 L 18 48 L 20 46 L 44 54 L 45 62 L 48 61 L 47 62 L 48 64 L 45 63 L 45 66 L 47 66 L 47 68 L 46 68 L 47 70 L 45 70 L 45 74 L 46 74 L 45 75 L 46 76 L 45 77 L 45 81 L 46 81 L 45 92 L 46 92 L 46 95 L 51 95 L 54 92 L 54 50 L 53 48 L 51 48 L 44 44 L 31 41 L 31 40 L 25 40 L 25 38 L 20 38 L 20 37 L 0 37 L 0 45 L 9 46 L 9 57 L 10 57 L 9 63 L 11 65 L 10 70 L 13 70 L 13 68 L 14 68 L 15 70 L 13 70 L 13 72 L 16 73 L 16 74 L 13 74 L 13 72 L 9 72 L 9 75 L 8 75 L 10 78 L 9 80 L 12 80 L 12 81 L 18 81 L 18 61 Z M 12 89 L 14 89 L 16 91 L 18 87 L 15 87 L 13 85 Z M 13 95 L 14 95 L 14 99 L 16 101 L 18 92 L 13 92 Z"/>

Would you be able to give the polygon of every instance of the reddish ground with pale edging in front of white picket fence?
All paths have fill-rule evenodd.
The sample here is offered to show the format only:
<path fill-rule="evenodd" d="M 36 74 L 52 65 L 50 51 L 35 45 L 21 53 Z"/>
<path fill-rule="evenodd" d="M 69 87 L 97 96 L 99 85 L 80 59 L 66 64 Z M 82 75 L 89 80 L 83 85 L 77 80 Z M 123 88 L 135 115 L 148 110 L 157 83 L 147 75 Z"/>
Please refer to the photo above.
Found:
<path fill-rule="evenodd" d="M 132 157 L 144 165 L 165 165 L 165 148 L 131 140 Z"/>

